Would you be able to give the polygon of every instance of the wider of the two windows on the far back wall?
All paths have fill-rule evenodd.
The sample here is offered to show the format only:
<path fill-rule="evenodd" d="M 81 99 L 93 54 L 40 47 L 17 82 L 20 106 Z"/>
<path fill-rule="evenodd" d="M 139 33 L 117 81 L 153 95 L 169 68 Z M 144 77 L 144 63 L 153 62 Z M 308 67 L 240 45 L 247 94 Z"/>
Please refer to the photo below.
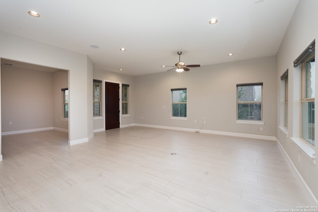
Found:
<path fill-rule="evenodd" d="M 237 84 L 237 119 L 262 120 L 263 83 Z"/>

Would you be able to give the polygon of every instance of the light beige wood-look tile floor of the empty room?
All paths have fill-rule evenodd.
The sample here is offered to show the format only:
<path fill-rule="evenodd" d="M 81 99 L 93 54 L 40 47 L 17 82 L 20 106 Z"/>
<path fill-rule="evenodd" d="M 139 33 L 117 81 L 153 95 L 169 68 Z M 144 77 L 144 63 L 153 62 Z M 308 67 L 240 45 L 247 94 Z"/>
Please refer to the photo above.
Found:
<path fill-rule="evenodd" d="M 171 153 L 176 153 L 171 155 Z M 274 141 L 127 127 L 2 136 L 0 212 L 275 212 L 311 206 Z"/>

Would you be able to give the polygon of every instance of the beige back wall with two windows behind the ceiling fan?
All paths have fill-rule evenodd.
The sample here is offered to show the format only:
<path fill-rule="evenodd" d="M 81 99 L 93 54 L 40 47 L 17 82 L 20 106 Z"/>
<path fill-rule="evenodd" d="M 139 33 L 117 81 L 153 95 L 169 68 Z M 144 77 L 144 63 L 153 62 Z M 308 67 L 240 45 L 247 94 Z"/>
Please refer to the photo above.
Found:
<path fill-rule="evenodd" d="M 135 77 L 135 122 L 265 136 L 276 134 L 275 57 Z M 264 125 L 236 123 L 236 85 L 263 82 Z M 170 119 L 173 88 L 187 88 L 187 120 Z M 203 123 L 205 117 L 206 123 Z M 195 120 L 197 122 L 195 123 Z M 260 127 L 263 128 L 260 131 Z"/>

